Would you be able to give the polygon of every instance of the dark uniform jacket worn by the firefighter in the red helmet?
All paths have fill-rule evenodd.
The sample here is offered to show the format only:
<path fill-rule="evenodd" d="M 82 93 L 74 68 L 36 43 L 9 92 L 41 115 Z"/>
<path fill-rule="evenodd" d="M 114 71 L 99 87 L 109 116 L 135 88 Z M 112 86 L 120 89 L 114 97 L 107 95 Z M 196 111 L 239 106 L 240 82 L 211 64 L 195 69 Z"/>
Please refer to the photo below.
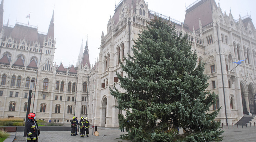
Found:
<path fill-rule="evenodd" d="M 29 119 L 27 121 L 27 140 L 37 140 L 38 135 L 40 134 L 38 130 L 38 124 L 36 121 L 32 121 L 32 119 Z"/>

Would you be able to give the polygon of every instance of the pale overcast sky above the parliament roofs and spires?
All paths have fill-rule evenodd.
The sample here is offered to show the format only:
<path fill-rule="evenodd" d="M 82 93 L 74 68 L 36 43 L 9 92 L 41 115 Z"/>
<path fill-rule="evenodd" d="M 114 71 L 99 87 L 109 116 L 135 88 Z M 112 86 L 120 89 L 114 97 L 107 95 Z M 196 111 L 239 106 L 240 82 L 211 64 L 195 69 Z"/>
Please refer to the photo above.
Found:
<path fill-rule="evenodd" d="M 28 24 L 25 18 L 30 12 L 29 25 L 38 26 L 39 32 L 47 33 L 54 10 L 54 38 L 56 49 L 54 63 L 64 67 L 76 66 L 77 57 L 83 39 L 83 48 L 88 35 L 90 63 L 95 64 L 99 55 L 102 31 L 106 34 L 109 16 L 114 15 L 115 4 L 120 0 L 4 0 L 4 17 L 6 24 L 15 25 L 16 21 Z M 135 0 L 134 0 L 135 1 Z M 145 0 L 150 10 L 170 16 L 184 22 L 185 7 L 196 0 Z M 255 0 L 215 0 L 222 12 L 230 9 L 234 19 L 252 16 L 256 24 Z"/>

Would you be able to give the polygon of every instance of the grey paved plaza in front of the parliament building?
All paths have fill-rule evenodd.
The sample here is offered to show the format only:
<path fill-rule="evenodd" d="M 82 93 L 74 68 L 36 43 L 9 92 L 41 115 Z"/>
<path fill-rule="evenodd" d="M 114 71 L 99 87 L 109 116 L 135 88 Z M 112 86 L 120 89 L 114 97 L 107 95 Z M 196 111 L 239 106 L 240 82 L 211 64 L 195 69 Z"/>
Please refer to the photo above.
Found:
<path fill-rule="evenodd" d="M 254 126 L 247 128 L 245 126 L 243 128 L 242 126 L 232 128 L 231 126 L 229 129 L 224 126 L 223 130 L 225 130 L 222 135 L 223 142 L 256 142 L 256 127 Z M 99 132 L 99 136 L 92 135 L 92 129 L 90 129 L 89 137 L 84 138 L 80 138 L 79 135 L 71 137 L 70 131 L 43 131 L 39 136 L 39 142 L 131 142 L 119 139 L 120 134 L 126 134 L 127 132 L 121 132 L 117 128 L 98 127 L 97 131 Z M 25 142 L 23 133 L 17 132 L 14 142 Z"/>

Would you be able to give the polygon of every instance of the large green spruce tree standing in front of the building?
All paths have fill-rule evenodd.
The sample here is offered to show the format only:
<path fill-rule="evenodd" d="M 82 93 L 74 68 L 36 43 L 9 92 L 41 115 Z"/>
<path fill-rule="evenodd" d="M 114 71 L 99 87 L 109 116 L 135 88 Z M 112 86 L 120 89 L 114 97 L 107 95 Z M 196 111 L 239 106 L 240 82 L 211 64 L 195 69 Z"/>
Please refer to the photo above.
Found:
<path fill-rule="evenodd" d="M 134 41 L 134 56 L 121 62 L 127 76 L 117 76 L 120 93 L 114 86 L 111 95 L 118 99 L 119 127 L 128 135 L 122 139 L 143 142 L 220 140 L 218 110 L 207 111 L 217 95 L 205 91 L 209 77 L 204 64 L 196 66 L 197 55 L 187 36 L 159 17 L 149 23 Z M 179 135 L 178 127 L 184 134 Z M 201 133 L 202 131 L 202 133 Z M 204 136 L 204 137 L 203 137 Z"/>

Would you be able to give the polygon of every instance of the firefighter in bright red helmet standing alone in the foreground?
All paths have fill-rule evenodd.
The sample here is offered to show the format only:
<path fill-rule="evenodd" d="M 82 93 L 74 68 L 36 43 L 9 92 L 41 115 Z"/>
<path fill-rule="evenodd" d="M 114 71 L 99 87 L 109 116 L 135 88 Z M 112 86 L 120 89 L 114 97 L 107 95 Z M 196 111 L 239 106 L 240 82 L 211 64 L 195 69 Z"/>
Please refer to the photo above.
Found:
<path fill-rule="evenodd" d="M 26 122 L 27 142 L 38 142 L 38 135 L 40 134 L 40 130 L 38 128 L 38 124 L 35 121 L 35 114 L 29 114 L 28 118 L 29 120 Z"/>

